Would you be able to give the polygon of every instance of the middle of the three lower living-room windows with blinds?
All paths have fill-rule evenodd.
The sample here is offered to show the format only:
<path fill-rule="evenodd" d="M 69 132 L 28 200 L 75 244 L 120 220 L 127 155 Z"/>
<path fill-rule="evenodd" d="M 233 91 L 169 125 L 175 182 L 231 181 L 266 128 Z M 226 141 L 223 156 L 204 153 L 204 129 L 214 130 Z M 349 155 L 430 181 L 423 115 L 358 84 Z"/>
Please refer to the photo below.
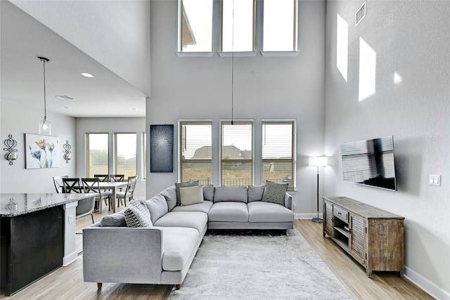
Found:
<path fill-rule="evenodd" d="M 221 122 L 221 186 L 253 185 L 253 122 Z"/>

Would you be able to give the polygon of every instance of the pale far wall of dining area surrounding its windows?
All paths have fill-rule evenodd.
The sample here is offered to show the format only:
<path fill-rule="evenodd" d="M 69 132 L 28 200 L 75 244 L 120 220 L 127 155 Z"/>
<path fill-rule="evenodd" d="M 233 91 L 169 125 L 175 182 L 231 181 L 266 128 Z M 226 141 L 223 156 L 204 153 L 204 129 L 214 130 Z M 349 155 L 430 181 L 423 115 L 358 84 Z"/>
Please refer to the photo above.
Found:
<path fill-rule="evenodd" d="M 113 151 L 113 133 L 137 133 L 136 161 L 142 161 L 141 133 L 146 131 L 145 118 L 77 118 L 77 176 L 86 176 L 85 136 L 86 133 L 109 133 L 110 151 Z M 137 166 L 138 181 L 134 191 L 137 199 L 146 199 L 146 181 L 141 176 L 141 165 Z"/>

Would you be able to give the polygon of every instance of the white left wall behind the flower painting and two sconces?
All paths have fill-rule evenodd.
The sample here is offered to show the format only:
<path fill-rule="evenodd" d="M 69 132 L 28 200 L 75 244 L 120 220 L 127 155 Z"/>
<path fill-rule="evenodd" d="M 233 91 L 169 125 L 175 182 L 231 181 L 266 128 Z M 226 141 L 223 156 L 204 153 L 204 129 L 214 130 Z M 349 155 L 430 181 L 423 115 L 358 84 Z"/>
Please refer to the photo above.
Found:
<path fill-rule="evenodd" d="M 18 159 L 10 166 L 4 158 L 3 151 L 0 157 L 0 193 L 56 193 L 53 185 L 53 176 L 75 176 L 75 156 L 68 164 L 63 160 L 63 144 L 69 141 L 75 144 L 75 118 L 47 112 L 47 117 L 52 124 L 52 136 L 59 137 L 60 167 L 49 169 L 25 169 L 25 155 L 29 155 L 25 149 L 25 133 L 39 133 L 39 121 L 44 117 L 42 110 L 35 110 L 27 105 L 22 105 L 13 100 L 0 100 L 0 137 L 1 143 L 8 138 L 8 134 L 18 142 Z M 72 153 L 73 154 L 73 153 Z"/>

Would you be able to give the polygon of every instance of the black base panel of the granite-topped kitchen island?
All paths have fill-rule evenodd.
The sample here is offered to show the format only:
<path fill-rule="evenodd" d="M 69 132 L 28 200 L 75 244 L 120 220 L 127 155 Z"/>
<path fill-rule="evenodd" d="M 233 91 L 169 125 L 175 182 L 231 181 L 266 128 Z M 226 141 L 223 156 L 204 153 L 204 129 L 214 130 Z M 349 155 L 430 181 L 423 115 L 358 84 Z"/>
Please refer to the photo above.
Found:
<path fill-rule="evenodd" d="M 63 206 L 2 217 L 1 254 L 1 287 L 6 296 L 63 266 Z"/>

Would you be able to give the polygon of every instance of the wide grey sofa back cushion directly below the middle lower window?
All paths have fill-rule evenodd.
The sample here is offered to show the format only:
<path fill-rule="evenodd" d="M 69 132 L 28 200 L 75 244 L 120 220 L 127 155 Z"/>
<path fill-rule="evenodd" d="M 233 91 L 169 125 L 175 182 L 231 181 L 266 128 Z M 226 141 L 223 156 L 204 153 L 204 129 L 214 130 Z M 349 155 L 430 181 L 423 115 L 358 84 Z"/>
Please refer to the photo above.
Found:
<path fill-rule="evenodd" d="M 248 222 L 247 204 L 242 202 L 214 203 L 208 214 L 208 220 L 210 222 Z"/>

